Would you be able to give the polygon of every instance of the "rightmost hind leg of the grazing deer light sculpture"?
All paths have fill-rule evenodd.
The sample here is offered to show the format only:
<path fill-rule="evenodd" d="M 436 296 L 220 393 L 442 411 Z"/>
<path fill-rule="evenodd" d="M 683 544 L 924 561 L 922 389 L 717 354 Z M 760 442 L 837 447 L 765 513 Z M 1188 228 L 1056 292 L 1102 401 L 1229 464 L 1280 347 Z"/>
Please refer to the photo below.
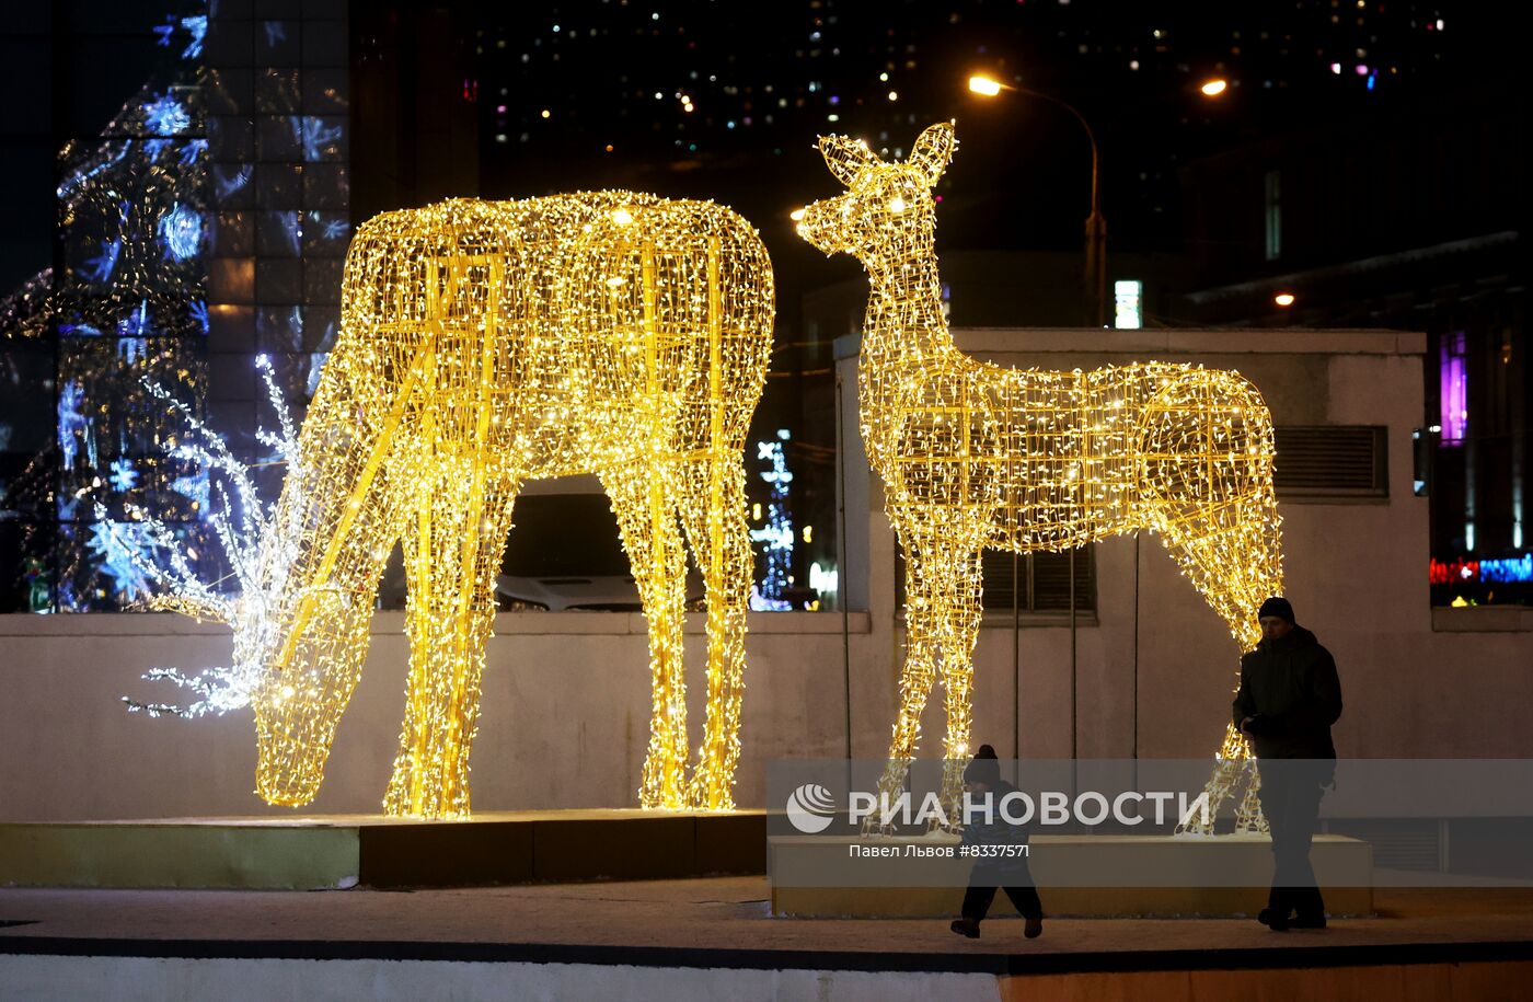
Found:
<path fill-rule="evenodd" d="M 707 810 L 734 807 L 734 769 L 740 758 L 745 613 L 754 561 L 745 519 L 745 469 L 737 452 L 728 460 L 691 464 L 681 506 L 708 599 L 708 715 L 688 789 L 688 803 Z"/>

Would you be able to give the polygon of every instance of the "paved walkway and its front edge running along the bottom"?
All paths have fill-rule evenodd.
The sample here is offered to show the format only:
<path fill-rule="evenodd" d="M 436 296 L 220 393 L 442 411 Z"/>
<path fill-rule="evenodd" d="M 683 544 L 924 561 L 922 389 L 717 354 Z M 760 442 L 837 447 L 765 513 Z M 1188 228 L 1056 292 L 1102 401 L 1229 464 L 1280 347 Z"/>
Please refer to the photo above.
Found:
<path fill-rule="evenodd" d="M 963 939 L 946 916 L 773 918 L 766 896 L 760 876 L 412 893 L 0 889 L 0 994 L 1435 1002 L 1519 999 L 1533 984 L 1530 889 L 1380 889 L 1377 918 L 1291 933 L 1050 913 L 1041 939 L 1023 939 L 1016 919 Z"/>

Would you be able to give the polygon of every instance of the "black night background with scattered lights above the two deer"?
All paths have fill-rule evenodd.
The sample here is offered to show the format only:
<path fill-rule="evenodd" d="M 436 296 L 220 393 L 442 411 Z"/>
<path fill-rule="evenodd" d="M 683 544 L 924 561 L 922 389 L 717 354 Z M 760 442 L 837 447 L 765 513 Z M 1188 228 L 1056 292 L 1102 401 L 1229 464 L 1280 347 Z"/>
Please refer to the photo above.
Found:
<path fill-rule="evenodd" d="M 1496 25 L 1430 3 L 590 0 L 506 11 L 474 14 L 483 193 L 714 198 L 760 227 L 789 294 L 857 274 L 849 259 L 803 247 L 786 218 L 837 192 L 812 149 L 826 132 L 903 153 L 920 129 L 955 118 L 961 149 L 938 188 L 938 248 L 1081 247 L 1084 130 L 1036 98 L 970 95 L 972 72 L 1062 98 L 1091 123 L 1116 251 L 1177 248 L 1177 170 L 1191 158 L 1438 100 L 1466 86 L 1466 70 L 1505 72 L 1487 58 Z M 1213 77 L 1231 83 L 1219 101 L 1197 92 Z"/>

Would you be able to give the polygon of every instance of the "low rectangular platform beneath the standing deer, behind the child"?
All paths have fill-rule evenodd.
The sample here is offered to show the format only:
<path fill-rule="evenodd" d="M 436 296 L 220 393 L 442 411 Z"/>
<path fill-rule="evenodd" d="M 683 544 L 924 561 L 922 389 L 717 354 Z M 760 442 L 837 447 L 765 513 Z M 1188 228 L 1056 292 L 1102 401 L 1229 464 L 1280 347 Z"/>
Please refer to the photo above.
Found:
<path fill-rule="evenodd" d="M 931 849 L 957 841 L 885 838 L 880 844 Z M 950 915 L 969 882 L 972 861 L 849 858 L 854 837 L 802 835 L 768 840 L 773 915 L 803 918 L 918 918 Z M 1266 902 L 1272 844 L 1265 835 L 1177 838 L 1160 835 L 1035 835 L 1029 869 L 1052 915 L 1243 916 Z M 1372 847 L 1341 835 L 1317 835 L 1315 878 L 1332 915 L 1374 912 Z M 842 886 L 816 886 L 828 873 Z M 914 882 L 918 875 L 923 886 Z M 998 895 L 996 915 L 1016 915 Z"/>

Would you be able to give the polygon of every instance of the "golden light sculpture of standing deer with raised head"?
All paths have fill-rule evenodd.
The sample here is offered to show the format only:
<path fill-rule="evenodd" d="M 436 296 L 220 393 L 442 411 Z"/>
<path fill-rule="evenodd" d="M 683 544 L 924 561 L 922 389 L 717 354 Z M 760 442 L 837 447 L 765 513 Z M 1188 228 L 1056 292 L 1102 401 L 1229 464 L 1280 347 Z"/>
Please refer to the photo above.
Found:
<path fill-rule="evenodd" d="M 943 320 L 932 187 L 955 149 L 941 123 L 889 164 L 823 136 L 846 193 L 808 205 L 799 236 L 868 270 L 857 386 L 868 458 L 906 559 L 906 660 L 881 788 L 895 792 L 932 683 L 946 694 L 943 801 L 969 754 L 972 654 L 986 547 L 1065 550 L 1154 530 L 1242 650 L 1257 608 L 1282 594 L 1272 424 L 1236 372 L 1142 363 L 1082 372 L 1013 369 L 961 354 Z M 1237 827 L 1260 827 L 1245 738 L 1228 726 L 1210 818 L 1242 775 Z M 957 817 L 949 810 L 949 817 Z"/>

